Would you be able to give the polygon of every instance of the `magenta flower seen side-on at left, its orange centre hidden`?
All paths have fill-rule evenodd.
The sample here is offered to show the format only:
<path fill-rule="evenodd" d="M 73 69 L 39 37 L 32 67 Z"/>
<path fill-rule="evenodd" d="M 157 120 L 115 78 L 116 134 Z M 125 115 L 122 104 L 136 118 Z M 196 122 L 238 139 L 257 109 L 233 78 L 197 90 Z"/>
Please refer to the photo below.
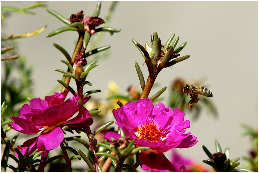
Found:
<path fill-rule="evenodd" d="M 47 150 L 57 148 L 64 139 L 63 125 L 78 124 L 90 117 L 89 111 L 77 104 L 79 97 L 72 97 L 64 101 L 64 93 L 55 92 L 53 96 L 46 96 L 45 100 L 34 98 L 30 105 L 24 104 L 19 117 L 11 117 L 12 129 L 24 134 L 40 134 L 38 137 L 24 142 L 23 147 L 18 145 L 21 154 L 25 154 L 27 148 L 29 155 L 36 149 L 44 151 L 41 156 L 47 156 Z M 90 97 L 84 100 L 87 102 Z M 76 112 L 79 113 L 73 116 Z"/>

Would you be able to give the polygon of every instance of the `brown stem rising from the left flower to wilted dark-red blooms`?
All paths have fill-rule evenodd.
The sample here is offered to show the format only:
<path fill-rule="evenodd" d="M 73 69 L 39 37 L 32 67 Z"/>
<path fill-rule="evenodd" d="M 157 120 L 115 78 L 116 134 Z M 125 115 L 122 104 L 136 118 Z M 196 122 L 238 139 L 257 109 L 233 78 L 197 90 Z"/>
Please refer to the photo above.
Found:
<path fill-rule="evenodd" d="M 75 50 L 73 52 L 73 55 L 71 57 L 71 65 L 73 66 L 73 64 L 76 61 L 76 55 L 79 54 L 81 52 L 81 49 L 83 47 L 83 39 L 84 39 L 84 32 L 79 32 L 79 36 L 78 36 L 78 41 L 75 47 Z M 70 71 L 69 68 L 67 69 L 67 71 Z M 69 84 L 70 82 L 70 77 L 65 77 L 64 82 Z M 66 88 L 63 86 L 61 89 L 61 92 L 64 92 L 66 90 Z M 66 97 L 66 94 L 65 94 Z"/>

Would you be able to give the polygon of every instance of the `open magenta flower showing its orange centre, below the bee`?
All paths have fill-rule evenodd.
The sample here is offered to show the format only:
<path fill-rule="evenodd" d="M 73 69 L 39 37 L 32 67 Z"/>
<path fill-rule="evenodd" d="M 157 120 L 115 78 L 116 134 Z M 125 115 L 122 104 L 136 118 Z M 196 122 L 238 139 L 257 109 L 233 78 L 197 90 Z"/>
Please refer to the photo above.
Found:
<path fill-rule="evenodd" d="M 149 147 L 149 153 L 154 151 L 162 154 L 173 148 L 188 148 L 196 144 L 196 137 L 191 133 L 186 133 L 184 129 L 190 127 L 190 121 L 184 121 L 184 112 L 175 108 L 166 108 L 163 103 L 155 106 L 151 99 L 140 99 L 136 103 L 129 102 L 117 110 L 113 109 L 113 115 L 117 120 L 116 124 L 123 129 L 125 136 L 131 140 L 135 139 L 135 145 L 139 147 Z M 107 132 L 105 138 L 116 138 L 115 132 Z M 159 163 L 169 162 L 166 157 L 153 157 L 154 162 L 147 161 L 141 154 L 147 155 L 147 151 L 141 151 L 139 161 L 143 170 L 150 171 L 174 171 L 169 164 L 168 167 L 161 169 Z M 157 163 L 157 164 L 155 164 Z M 170 162 L 169 162 L 170 163 Z"/>

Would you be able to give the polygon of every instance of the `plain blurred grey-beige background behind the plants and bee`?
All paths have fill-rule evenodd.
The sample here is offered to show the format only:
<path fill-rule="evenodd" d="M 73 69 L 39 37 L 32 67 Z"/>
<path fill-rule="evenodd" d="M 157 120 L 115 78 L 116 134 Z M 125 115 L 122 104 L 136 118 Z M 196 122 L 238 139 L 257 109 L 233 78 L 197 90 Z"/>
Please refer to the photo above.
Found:
<path fill-rule="evenodd" d="M 5 2 L 1 5 L 27 6 L 35 2 Z M 47 8 L 53 9 L 69 18 L 72 13 L 83 10 L 84 15 L 91 15 L 96 1 L 49 1 Z M 105 17 L 110 1 L 103 1 L 99 17 Z M 76 32 L 46 38 L 46 35 L 64 23 L 46 12 L 45 8 L 34 9 L 37 14 L 12 14 L 2 23 L 2 31 L 10 35 L 13 32 L 25 33 L 47 25 L 47 29 L 36 36 L 19 39 L 20 54 L 25 55 L 28 65 L 34 68 L 34 94 L 44 98 L 56 86 L 61 73 L 53 69 L 66 69 L 60 62 L 64 56 L 52 45 L 57 43 L 71 55 L 77 40 Z M 192 81 L 206 75 L 209 89 L 213 93 L 211 100 L 219 112 L 219 119 L 213 119 L 204 111 L 198 121 L 191 120 L 187 132 L 195 135 L 199 142 L 191 148 L 180 149 L 202 163 L 207 159 L 202 150 L 205 145 L 215 152 L 214 139 L 217 138 L 222 148 L 230 148 L 230 157 L 247 155 L 250 149 L 248 137 L 241 137 L 244 131 L 239 125 L 247 123 L 258 127 L 258 2 L 257 1 L 123 1 L 119 2 L 109 24 L 112 28 L 120 28 L 113 36 L 107 32 L 98 47 L 111 45 L 109 56 L 98 62 L 87 80 L 93 85 L 85 90 L 100 89 L 95 94 L 104 99 L 107 82 L 114 80 L 122 92 L 127 86 L 138 87 L 134 61 L 142 64 L 143 57 L 132 43 L 135 39 L 141 45 L 150 45 L 150 35 L 157 31 L 164 44 L 175 33 L 180 36 L 178 45 L 187 42 L 180 52 L 181 56 L 191 57 L 172 68 L 163 69 L 156 79 L 160 88 L 168 86 L 163 101 L 168 106 L 167 96 L 171 81 L 178 76 Z M 95 38 L 95 37 L 93 37 Z M 92 38 L 91 38 L 92 39 Z M 140 65 L 141 66 L 141 65 Z M 147 79 L 146 65 L 141 66 L 144 78 Z M 74 82 L 71 82 L 73 85 Z M 154 89 L 150 96 L 157 92 Z M 186 113 L 185 119 L 190 119 Z M 244 164 L 241 161 L 241 165 Z"/>

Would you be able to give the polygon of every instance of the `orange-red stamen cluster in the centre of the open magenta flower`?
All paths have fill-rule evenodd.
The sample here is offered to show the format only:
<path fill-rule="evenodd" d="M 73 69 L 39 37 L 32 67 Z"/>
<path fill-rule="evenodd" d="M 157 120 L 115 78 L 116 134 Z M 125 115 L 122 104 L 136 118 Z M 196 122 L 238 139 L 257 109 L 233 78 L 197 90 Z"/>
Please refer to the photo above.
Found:
<path fill-rule="evenodd" d="M 152 122 L 139 127 L 136 132 L 136 136 L 139 138 L 144 138 L 150 142 L 157 142 L 160 139 L 162 132 L 157 130 L 156 125 Z"/>

